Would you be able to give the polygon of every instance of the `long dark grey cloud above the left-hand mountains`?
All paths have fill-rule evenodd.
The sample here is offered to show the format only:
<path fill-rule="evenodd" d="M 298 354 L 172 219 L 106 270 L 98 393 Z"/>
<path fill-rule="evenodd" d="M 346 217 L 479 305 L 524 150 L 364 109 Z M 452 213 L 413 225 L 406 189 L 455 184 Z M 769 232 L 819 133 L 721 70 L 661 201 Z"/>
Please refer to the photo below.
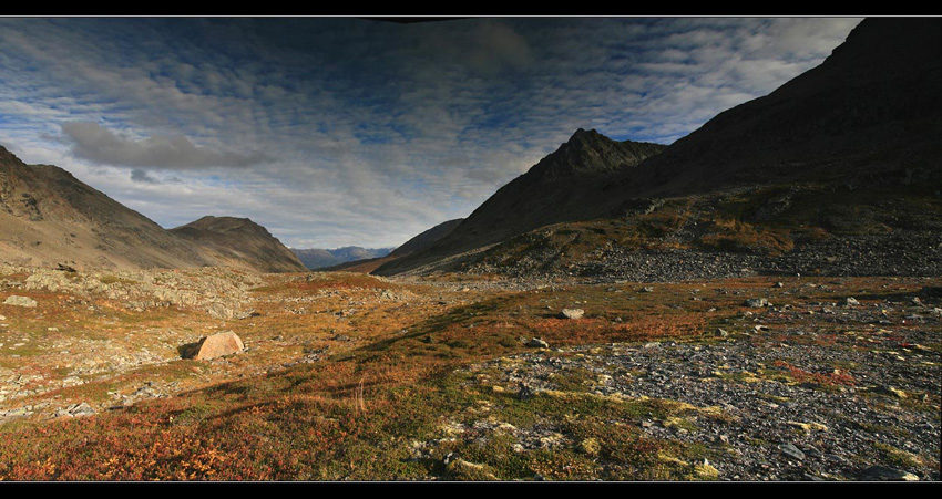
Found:
<path fill-rule="evenodd" d="M 198 169 L 247 167 L 268 160 L 265 155 L 257 153 L 242 155 L 199 147 L 180 134 L 134 141 L 119 136 L 96 123 L 70 122 L 61 126 L 62 133 L 73 143 L 72 152 L 76 157 L 102 165 Z"/>

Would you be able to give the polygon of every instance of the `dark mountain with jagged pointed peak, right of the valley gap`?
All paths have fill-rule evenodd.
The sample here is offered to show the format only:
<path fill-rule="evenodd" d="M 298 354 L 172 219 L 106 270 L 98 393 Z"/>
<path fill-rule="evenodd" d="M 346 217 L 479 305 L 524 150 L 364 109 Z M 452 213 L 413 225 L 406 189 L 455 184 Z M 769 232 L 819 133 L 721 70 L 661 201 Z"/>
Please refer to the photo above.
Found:
<path fill-rule="evenodd" d="M 594 129 L 577 129 L 555 152 L 501 187 L 446 237 L 423 251 L 390 261 L 377 274 L 393 274 L 449 254 L 495 243 L 549 223 L 585 215 L 576 199 L 600 178 L 632 170 L 666 146 L 613 141 Z M 591 206 L 590 206 L 591 208 Z"/>

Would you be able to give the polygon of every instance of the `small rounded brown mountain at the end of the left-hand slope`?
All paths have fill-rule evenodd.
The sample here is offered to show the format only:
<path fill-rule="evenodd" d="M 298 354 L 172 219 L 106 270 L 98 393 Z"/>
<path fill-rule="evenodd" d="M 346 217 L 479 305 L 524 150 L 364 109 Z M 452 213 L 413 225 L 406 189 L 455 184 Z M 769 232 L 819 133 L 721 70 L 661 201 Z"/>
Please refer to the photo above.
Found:
<path fill-rule="evenodd" d="M 257 272 L 307 270 L 281 241 L 248 218 L 207 216 L 170 232 L 193 242 L 216 266 Z"/>

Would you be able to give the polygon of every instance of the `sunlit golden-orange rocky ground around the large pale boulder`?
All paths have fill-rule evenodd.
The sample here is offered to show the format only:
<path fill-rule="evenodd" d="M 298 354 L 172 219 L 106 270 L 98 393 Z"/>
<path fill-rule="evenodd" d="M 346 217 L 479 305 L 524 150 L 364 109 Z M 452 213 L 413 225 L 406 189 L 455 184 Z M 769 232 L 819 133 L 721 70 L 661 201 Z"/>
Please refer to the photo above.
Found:
<path fill-rule="evenodd" d="M 308 293 L 253 291 L 273 280 L 289 289 L 329 282 L 214 268 L 0 268 L 0 424 L 92 415 L 314 362 L 360 345 L 371 332 L 351 324 L 365 311 L 443 300 L 376 288 L 380 279 Z M 284 322 L 307 328 L 293 333 L 297 326 Z M 202 339 L 232 330 L 247 342 L 247 355 L 185 361 Z"/>

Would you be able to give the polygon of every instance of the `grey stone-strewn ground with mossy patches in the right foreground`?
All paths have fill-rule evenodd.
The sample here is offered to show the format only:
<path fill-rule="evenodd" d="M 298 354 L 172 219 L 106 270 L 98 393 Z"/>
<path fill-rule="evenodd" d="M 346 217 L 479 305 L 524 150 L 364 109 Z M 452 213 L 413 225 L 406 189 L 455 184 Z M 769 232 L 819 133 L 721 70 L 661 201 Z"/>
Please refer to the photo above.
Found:
<path fill-rule="evenodd" d="M 673 404 L 666 417 L 606 424 L 706 449 L 683 462 L 700 478 L 939 480 L 942 309 L 928 300 L 759 306 L 695 341 L 554 349 L 534 340 L 534 352 L 471 366 L 465 386 L 516 401 Z M 449 437 L 481 445 L 510 435 L 521 453 L 600 446 L 567 435 L 565 419 L 505 423 L 510 404 L 455 415 Z M 594 454 L 600 477 L 620 465 Z"/>

